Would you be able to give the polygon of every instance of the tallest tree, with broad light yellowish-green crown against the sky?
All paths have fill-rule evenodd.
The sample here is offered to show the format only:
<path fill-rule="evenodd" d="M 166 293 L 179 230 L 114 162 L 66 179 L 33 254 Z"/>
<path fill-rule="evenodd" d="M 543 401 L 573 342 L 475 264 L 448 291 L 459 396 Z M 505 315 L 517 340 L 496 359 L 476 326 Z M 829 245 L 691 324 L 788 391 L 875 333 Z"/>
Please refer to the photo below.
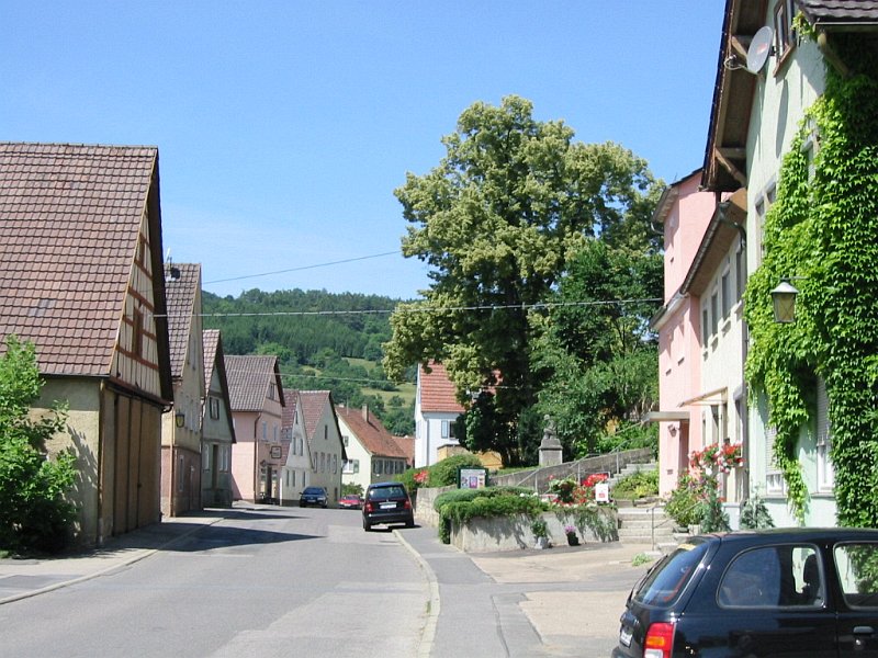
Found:
<path fill-rule="evenodd" d="M 395 191 L 409 223 L 403 252 L 431 265 L 432 283 L 391 318 L 384 367 L 401 377 L 441 361 L 463 401 L 493 387 L 482 415 L 505 429 L 492 447 L 514 460 L 519 415 L 540 387 L 530 363 L 538 305 L 590 238 L 650 239 L 655 183 L 631 151 L 574 141 L 517 97 L 475 103 L 442 143 L 439 166 Z"/>

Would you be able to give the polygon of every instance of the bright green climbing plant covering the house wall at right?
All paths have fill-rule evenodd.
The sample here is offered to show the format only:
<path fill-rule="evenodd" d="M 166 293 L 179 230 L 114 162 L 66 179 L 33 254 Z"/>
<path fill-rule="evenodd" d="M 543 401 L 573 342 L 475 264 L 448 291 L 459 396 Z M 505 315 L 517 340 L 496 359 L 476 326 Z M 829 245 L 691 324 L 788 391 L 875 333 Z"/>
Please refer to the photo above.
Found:
<path fill-rule="evenodd" d="M 856 38 L 854 36 L 846 37 Z M 878 526 L 878 70 L 875 54 L 840 37 L 847 76 L 828 67 L 824 94 L 784 158 L 765 219 L 765 257 L 747 282 L 746 378 L 768 402 L 774 457 L 804 522 L 798 460 L 817 376 L 830 400 L 838 523 Z M 848 56 L 849 55 L 849 56 Z M 797 276 L 797 319 L 776 325 L 770 290 Z"/>

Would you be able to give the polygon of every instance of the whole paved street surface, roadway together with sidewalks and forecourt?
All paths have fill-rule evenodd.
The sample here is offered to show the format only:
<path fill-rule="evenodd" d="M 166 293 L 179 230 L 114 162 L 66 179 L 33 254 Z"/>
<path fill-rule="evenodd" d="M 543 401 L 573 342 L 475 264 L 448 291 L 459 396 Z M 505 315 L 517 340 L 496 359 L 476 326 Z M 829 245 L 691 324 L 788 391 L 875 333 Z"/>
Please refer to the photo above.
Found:
<path fill-rule="evenodd" d="M 120 542 L 138 536 L 136 561 L 0 560 L 0 658 L 607 656 L 646 569 L 642 546 L 468 555 L 354 510 L 241 506 Z"/>

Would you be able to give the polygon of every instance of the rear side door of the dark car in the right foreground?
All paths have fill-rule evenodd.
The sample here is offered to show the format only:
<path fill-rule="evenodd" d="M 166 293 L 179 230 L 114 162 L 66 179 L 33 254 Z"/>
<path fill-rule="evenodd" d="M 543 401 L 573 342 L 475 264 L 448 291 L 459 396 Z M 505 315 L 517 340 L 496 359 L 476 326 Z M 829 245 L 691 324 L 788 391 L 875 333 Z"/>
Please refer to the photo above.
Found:
<path fill-rule="evenodd" d="M 819 556 L 819 548 L 810 544 L 765 545 L 718 555 L 720 563 L 714 559 L 713 565 L 719 572 L 706 576 L 699 587 L 700 601 L 689 602 L 680 623 L 690 655 L 835 657 L 835 615 L 826 601 Z M 722 569 L 722 564 L 728 566 Z M 806 564 L 812 565 L 810 585 Z"/>

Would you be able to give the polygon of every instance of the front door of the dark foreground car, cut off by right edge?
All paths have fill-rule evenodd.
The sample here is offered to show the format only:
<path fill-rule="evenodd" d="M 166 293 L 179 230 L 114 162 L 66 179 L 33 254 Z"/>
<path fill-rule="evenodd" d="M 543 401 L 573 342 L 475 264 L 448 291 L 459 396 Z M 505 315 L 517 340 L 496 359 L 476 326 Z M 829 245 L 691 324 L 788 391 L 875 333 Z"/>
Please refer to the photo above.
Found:
<path fill-rule="evenodd" d="M 838 589 L 838 656 L 878 657 L 878 544 L 833 547 Z"/>

